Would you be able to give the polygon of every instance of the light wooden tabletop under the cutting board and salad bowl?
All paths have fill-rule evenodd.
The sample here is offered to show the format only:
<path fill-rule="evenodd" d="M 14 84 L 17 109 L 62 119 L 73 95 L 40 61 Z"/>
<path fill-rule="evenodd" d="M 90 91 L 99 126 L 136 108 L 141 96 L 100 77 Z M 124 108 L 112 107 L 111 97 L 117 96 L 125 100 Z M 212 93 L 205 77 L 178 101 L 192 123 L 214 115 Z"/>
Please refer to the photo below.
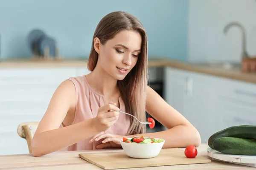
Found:
<path fill-rule="evenodd" d="M 201 144 L 198 149 L 198 156 L 203 156 L 211 159 L 207 156 L 207 144 Z M 183 150 L 185 148 L 182 148 Z M 87 161 L 81 159 L 79 153 L 99 153 L 99 152 L 110 152 L 111 149 L 107 150 L 88 150 L 88 151 L 67 151 L 59 153 L 50 153 L 41 157 L 34 157 L 32 154 L 17 154 L 17 155 L 4 155 L 0 156 L 0 169 L 12 169 L 18 168 L 19 170 L 28 169 L 47 169 L 47 170 L 102 170 L 96 165 L 90 164 Z M 115 151 L 122 151 L 122 149 L 115 149 Z M 141 167 L 141 168 L 128 168 L 122 170 L 157 170 L 160 167 Z M 253 169 L 255 167 L 248 167 L 238 164 L 232 164 L 222 161 L 212 160 L 211 163 L 204 164 L 185 164 L 185 165 L 171 165 L 161 166 L 161 170 L 239 170 L 239 169 Z"/>

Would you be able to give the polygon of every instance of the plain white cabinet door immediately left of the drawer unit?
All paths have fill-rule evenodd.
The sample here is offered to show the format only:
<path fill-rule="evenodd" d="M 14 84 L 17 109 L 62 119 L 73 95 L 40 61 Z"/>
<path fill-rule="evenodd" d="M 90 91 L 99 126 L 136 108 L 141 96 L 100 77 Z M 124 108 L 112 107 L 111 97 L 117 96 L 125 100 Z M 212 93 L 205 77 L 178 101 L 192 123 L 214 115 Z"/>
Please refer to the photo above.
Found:
<path fill-rule="evenodd" d="M 192 95 L 185 105 L 189 122 L 194 125 L 200 135 L 201 142 L 207 143 L 209 136 L 218 128 L 218 112 L 216 112 L 216 80 L 202 74 L 190 75 L 193 80 Z"/>

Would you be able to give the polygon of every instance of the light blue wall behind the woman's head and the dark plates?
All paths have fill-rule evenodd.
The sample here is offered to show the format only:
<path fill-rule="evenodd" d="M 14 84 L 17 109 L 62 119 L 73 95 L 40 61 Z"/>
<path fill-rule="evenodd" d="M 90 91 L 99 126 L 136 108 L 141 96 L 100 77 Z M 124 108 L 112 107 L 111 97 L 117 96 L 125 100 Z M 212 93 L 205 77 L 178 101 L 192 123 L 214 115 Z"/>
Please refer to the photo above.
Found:
<path fill-rule="evenodd" d="M 87 57 L 99 20 L 112 11 L 139 18 L 149 56 L 187 58 L 188 0 L 0 0 L 0 58 L 30 57 L 26 36 L 40 28 L 64 57 Z"/>

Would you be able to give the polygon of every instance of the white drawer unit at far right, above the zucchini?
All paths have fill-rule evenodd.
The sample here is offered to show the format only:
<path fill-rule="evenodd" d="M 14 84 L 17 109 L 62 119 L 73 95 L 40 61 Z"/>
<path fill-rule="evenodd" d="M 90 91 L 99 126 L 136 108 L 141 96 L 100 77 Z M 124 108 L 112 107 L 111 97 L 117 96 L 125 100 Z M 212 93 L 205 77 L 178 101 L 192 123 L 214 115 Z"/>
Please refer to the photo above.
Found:
<path fill-rule="evenodd" d="M 256 125 L 256 85 L 220 78 L 216 108 L 221 113 L 219 126 Z"/>

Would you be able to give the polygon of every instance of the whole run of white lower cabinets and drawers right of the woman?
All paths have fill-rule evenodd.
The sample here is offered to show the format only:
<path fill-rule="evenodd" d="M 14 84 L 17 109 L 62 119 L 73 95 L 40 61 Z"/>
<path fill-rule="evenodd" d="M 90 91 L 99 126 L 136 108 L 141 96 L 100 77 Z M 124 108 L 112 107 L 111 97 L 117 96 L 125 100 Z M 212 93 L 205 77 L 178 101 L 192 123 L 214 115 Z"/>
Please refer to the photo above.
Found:
<path fill-rule="evenodd" d="M 247 82 L 165 68 L 166 102 L 201 134 L 201 142 L 224 128 L 256 125 L 256 85 Z"/>

